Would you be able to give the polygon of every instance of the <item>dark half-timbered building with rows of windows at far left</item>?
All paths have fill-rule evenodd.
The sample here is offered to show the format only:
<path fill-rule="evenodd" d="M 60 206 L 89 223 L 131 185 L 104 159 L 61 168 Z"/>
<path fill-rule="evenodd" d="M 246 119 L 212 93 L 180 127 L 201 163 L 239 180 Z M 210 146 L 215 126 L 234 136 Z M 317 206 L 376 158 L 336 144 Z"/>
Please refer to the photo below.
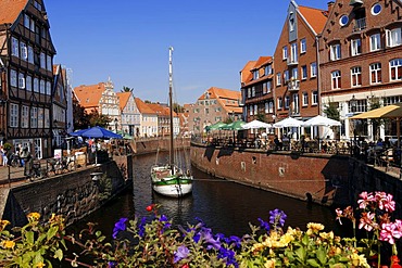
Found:
<path fill-rule="evenodd" d="M 0 136 L 52 154 L 52 85 L 55 49 L 41 0 L 0 1 Z"/>

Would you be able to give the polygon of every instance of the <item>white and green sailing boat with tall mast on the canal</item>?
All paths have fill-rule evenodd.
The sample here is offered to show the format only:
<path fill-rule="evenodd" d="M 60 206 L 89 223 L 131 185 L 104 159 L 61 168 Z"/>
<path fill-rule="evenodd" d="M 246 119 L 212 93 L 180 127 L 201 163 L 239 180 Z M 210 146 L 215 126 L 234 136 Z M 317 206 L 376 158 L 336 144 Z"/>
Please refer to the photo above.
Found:
<path fill-rule="evenodd" d="M 183 170 L 175 158 L 175 143 L 173 133 L 173 48 L 168 48 L 168 102 L 169 102 L 169 161 L 168 164 L 155 164 L 151 167 L 152 189 L 162 195 L 181 197 L 192 191 L 192 176 L 187 169 Z"/>

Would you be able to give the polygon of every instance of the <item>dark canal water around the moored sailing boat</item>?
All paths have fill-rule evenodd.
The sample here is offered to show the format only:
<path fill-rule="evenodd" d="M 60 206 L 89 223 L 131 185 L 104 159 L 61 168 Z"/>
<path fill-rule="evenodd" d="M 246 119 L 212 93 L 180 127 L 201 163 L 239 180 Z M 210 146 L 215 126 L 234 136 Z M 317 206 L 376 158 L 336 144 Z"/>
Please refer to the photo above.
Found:
<path fill-rule="evenodd" d="M 162 162 L 167 161 L 167 153 L 160 153 L 160 156 Z M 172 219 L 174 226 L 197 224 L 198 219 L 202 219 L 214 233 L 221 232 L 226 235 L 241 237 L 250 233 L 249 222 L 257 226 L 259 218 L 268 221 L 269 210 L 275 208 L 287 214 L 286 226 L 305 230 L 306 224 L 313 221 L 323 224 L 326 231 L 342 232 L 335 220 L 332 208 L 213 178 L 193 167 L 192 194 L 184 199 L 161 196 L 151 189 L 150 168 L 154 163 L 154 154 L 136 156 L 133 189 L 125 191 L 71 229 L 79 230 L 86 222 L 91 221 L 97 222 L 98 229 L 104 234 L 111 235 L 114 224 L 120 218 L 147 216 L 149 213 L 146 207 L 159 204 L 160 214 Z"/>

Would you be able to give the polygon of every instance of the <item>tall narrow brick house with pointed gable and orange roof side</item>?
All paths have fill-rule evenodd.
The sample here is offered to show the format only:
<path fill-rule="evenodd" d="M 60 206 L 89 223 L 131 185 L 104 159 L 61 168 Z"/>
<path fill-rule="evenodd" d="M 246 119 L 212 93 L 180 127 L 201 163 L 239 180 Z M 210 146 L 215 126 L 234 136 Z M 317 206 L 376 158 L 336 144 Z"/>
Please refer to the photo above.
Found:
<path fill-rule="evenodd" d="M 274 54 L 276 120 L 319 113 L 316 37 L 326 21 L 327 11 L 290 1 Z"/>

